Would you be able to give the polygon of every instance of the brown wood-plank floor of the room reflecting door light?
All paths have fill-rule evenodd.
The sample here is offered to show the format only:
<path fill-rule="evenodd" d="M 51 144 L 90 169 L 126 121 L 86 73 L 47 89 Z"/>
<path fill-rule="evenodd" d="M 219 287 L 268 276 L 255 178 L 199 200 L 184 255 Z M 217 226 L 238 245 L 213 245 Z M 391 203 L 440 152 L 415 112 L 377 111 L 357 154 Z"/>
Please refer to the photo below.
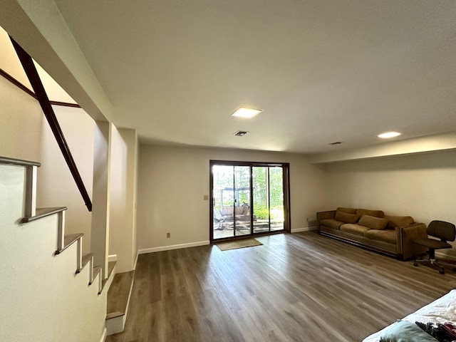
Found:
<path fill-rule="evenodd" d="M 257 239 L 140 255 L 125 331 L 106 341 L 361 341 L 456 284 L 316 232 Z"/>

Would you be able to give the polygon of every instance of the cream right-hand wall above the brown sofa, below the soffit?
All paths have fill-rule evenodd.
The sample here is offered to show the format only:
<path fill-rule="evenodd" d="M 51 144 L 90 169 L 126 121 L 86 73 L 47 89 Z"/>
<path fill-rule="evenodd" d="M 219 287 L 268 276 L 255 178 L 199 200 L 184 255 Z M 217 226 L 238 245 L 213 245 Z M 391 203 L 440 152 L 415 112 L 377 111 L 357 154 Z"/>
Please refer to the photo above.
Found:
<path fill-rule="evenodd" d="M 328 202 L 321 210 L 363 207 L 410 215 L 425 224 L 432 219 L 456 224 L 455 151 L 336 162 L 322 168 Z"/>

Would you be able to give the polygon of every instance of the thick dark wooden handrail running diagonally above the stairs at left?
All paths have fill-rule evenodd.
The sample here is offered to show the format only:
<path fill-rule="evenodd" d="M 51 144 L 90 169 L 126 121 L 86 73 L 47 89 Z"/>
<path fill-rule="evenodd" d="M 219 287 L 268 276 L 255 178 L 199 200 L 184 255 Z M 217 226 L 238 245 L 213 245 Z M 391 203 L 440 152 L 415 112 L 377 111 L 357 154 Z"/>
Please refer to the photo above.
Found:
<path fill-rule="evenodd" d="M 86 203 L 86 207 L 89 212 L 92 211 L 92 202 L 90 201 L 90 197 L 88 196 L 86 187 L 84 186 L 83 180 L 81 175 L 79 174 L 78 167 L 76 167 L 76 163 L 73 160 L 73 156 L 71 155 L 70 148 L 68 147 L 65 137 L 63 136 L 63 132 L 61 130 L 60 125 L 58 124 L 56 114 L 52 109 L 52 105 L 48 99 L 48 95 L 46 95 L 46 90 L 44 90 L 43 83 L 41 83 L 40 76 L 38 75 L 38 71 L 36 71 L 35 64 L 33 64 L 33 60 L 26 51 L 24 51 L 21 46 L 14 41 L 11 36 L 11 43 L 13 43 L 14 49 L 16 50 L 17 56 L 19 57 L 19 61 L 26 72 L 28 81 L 35 92 L 36 99 L 41 105 L 41 109 L 43 110 L 44 116 L 46 120 L 48 120 L 49 125 L 51 126 L 52 133 L 57 140 L 58 147 L 65 158 L 66 164 L 70 168 L 71 175 L 73 175 L 73 179 L 76 182 L 76 186 L 81 192 L 81 195 Z"/>

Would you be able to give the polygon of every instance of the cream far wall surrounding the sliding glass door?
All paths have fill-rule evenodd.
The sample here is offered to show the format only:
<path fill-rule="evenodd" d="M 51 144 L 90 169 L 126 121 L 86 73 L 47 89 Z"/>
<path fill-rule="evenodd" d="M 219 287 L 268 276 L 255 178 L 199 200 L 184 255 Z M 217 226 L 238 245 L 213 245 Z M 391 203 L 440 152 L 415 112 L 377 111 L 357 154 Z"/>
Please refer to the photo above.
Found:
<path fill-rule="evenodd" d="M 292 232 L 323 207 L 323 172 L 303 155 L 140 145 L 138 249 L 209 242 L 209 160 L 289 162 Z"/>

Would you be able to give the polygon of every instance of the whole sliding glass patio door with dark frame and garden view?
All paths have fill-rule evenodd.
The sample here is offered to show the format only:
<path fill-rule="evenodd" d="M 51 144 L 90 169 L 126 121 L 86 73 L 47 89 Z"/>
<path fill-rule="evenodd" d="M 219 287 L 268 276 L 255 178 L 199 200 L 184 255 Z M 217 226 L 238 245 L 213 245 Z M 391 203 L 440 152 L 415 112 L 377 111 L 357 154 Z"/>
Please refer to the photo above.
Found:
<path fill-rule="evenodd" d="M 289 164 L 210 161 L 210 240 L 289 232 Z"/>

